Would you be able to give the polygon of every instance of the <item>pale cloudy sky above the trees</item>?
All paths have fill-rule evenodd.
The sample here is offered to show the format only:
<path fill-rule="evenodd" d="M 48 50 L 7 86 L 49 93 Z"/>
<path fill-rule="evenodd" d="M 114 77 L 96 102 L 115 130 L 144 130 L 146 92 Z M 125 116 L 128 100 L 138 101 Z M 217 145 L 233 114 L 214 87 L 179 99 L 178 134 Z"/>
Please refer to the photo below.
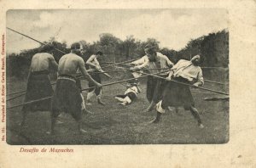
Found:
<path fill-rule="evenodd" d="M 169 9 L 54 9 L 9 10 L 7 27 L 40 42 L 55 37 L 58 42 L 99 41 L 102 33 L 125 40 L 155 38 L 161 48 L 179 50 L 191 39 L 228 28 L 228 13 L 221 8 Z M 25 36 L 7 30 L 7 53 L 37 48 Z"/>

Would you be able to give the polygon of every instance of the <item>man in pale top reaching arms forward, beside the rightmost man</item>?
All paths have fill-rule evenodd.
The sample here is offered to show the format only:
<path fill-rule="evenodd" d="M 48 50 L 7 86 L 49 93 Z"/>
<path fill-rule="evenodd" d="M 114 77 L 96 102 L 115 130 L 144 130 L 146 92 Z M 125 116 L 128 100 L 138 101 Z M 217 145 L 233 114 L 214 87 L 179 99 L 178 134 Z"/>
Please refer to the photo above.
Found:
<path fill-rule="evenodd" d="M 168 69 L 172 68 L 173 63 L 170 59 L 163 55 L 162 53 L 158 53 L 155 51 L 153 47 L 146 46 L 145 48 L 146 55 L 143 56 L 142 59 L 138 59 L 137 61 L 133 61 L 130 64 L 136 65 L 131 68 L 131 70 L 143 70 L 145 68 L 148 69 Z M 149 73 L 157 73 L 163 72 L 166 70 L 148 70 Z M 163 72 L 160 76 L 167 76 L 167 72 Z M 150 103 L 148 108 L 145 110 L 146 112 L 151 111 L 154 108 L 154 105 L 160 101 L 163 88 L 165 88 L 166 81 L 156 78 L 154 76 L 148 76 L 147 81 L 147 98 Z"/>

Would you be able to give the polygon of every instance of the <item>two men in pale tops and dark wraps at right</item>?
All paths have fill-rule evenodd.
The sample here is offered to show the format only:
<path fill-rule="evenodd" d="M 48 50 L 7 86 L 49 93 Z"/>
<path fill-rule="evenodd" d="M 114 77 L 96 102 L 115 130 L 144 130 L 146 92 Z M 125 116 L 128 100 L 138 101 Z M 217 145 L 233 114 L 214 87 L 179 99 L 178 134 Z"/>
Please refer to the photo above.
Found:
<path fill-rule="evenodd" d="M 146 111 L 151 111 L 156 106 L 156 117 L 150 123 L 158 123 L 160 115 L 165 113 L 168 107 L 183 107 L 189 109 L 203 128 L 201 116 L 195 109 L 195 101 L 190 92 L 189 86 L 200 87 L 204 84 L 202 70 L 199 66 L 200 55 L 195 55 L 191 60 L 180 59 L 177 64 L 173 64 L 170 59 L 155 48 L 148 45 L 145 48 L 146 55 L 130 64 L 135 65 L 131 70 L 149 69 L 147 81 L 147 98 L 149 106 Z M 168 69 L 166 71 L 166 69 Z M 152 69 L 152 70 L 150 70 Z M 158 76 L 151 75 L 157 73 Z"/>

